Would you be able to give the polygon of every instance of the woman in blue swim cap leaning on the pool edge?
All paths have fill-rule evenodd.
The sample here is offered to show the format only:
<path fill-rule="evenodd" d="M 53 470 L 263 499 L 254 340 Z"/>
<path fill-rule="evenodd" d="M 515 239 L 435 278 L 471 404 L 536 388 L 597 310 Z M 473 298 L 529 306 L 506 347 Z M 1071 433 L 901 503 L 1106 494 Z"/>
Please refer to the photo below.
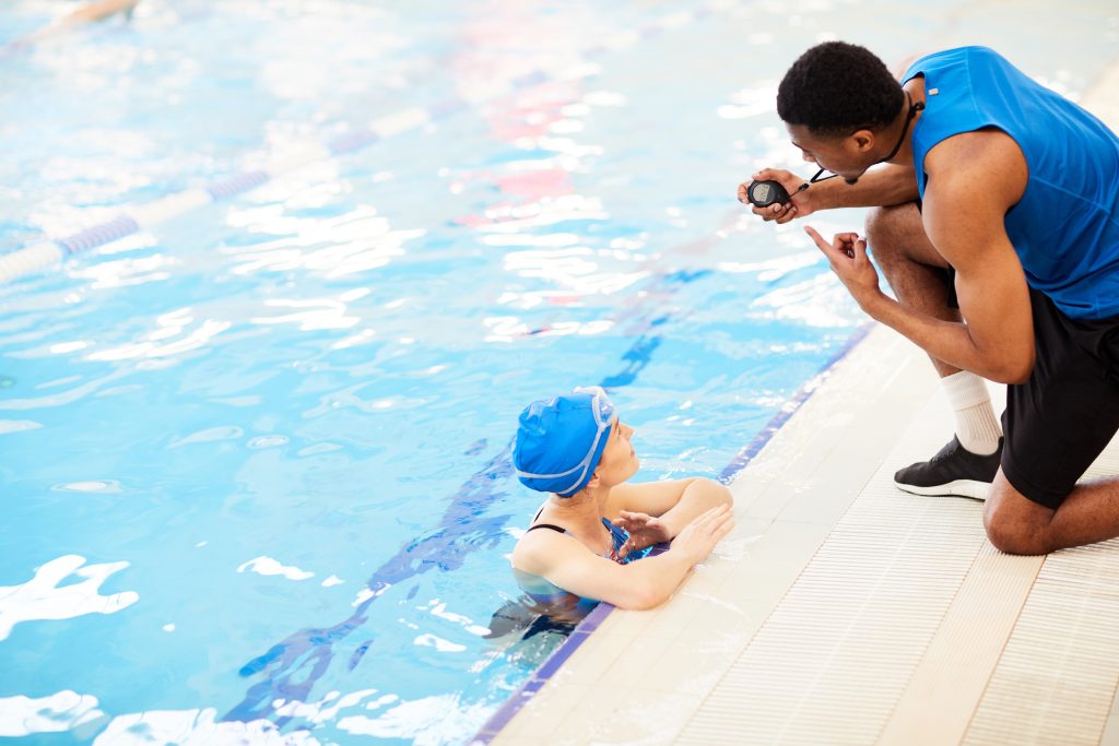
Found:
<path fill-rule="evenodd" d="M 731 492 L 717 482 L 626 483 L 640 465 L 632 435 L 599 387 L 520 414 L 517 476 L 552 493 L 513 551 L 517 583 L 539 604 L 651 608 L 734 527 Z M 667 551 L 631 563 L 670 539 Z"/>

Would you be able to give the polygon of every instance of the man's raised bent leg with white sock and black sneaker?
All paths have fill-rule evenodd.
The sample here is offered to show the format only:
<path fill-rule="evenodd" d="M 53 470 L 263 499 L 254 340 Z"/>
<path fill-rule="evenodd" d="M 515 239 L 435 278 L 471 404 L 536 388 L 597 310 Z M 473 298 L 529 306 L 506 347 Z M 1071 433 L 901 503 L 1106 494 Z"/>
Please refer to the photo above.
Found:
<path fill-rule="evenodd" d="M 915 204 L 876 208 L 866 220 L 867 243 L 899 302 L 943 321 L 961 321 L 943 257 L 924 233 Z M 931 461 L 894 475 L 919 494 L 982 499 L 998 469 L 1002 429 L 982 378 L 930 356 L 956 418 L 956 437 Z"/>

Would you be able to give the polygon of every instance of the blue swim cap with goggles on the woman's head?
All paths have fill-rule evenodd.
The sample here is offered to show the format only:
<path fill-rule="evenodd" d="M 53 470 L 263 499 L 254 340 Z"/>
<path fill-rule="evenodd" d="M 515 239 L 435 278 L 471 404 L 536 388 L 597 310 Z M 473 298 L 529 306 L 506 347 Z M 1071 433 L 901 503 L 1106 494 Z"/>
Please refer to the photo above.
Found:
<path fill-rule="evenodd" d="M 520 413 L 513 465 L 525 487 L 570 498 L 591 481 L 614 405 L 599 386 L 533 402 Z"/>

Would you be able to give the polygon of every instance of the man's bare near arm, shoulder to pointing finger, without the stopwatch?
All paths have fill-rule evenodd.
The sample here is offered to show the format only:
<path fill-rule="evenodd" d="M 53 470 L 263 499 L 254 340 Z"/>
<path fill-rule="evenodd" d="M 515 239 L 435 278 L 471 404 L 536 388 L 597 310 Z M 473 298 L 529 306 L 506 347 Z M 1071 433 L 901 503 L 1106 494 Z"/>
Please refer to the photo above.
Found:
<path fill-rule="evenodd" d="M 944 362 L 990 380 L 1022 383 L 1034 365 L 1033 317 L 1025 273 L 1004 225 L 1025 191 L 1022 150 L 1002 132 L 971 132 L 933 148 L 925 168 L 925 230 L 956 268 L 965 323 L 927 317 L 883 294 L 865 243 L 853 234 L 837 236 L 833 246 L 818 234 L 814 238 L 871 317 Z"/>

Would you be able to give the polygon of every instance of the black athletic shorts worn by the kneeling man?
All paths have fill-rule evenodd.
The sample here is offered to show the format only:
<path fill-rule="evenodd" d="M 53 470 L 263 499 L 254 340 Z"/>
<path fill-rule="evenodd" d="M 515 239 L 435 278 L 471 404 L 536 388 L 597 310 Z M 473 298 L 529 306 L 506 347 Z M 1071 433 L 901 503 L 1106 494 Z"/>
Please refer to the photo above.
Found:
<path fill-rule="evenodd" d="M 1119 431 L 1119 317 L 1066 317 L 1029 290 L 1036 361 L 1006 387 L 1003 474 L 1022 494 L 1056 509 Z"/>

